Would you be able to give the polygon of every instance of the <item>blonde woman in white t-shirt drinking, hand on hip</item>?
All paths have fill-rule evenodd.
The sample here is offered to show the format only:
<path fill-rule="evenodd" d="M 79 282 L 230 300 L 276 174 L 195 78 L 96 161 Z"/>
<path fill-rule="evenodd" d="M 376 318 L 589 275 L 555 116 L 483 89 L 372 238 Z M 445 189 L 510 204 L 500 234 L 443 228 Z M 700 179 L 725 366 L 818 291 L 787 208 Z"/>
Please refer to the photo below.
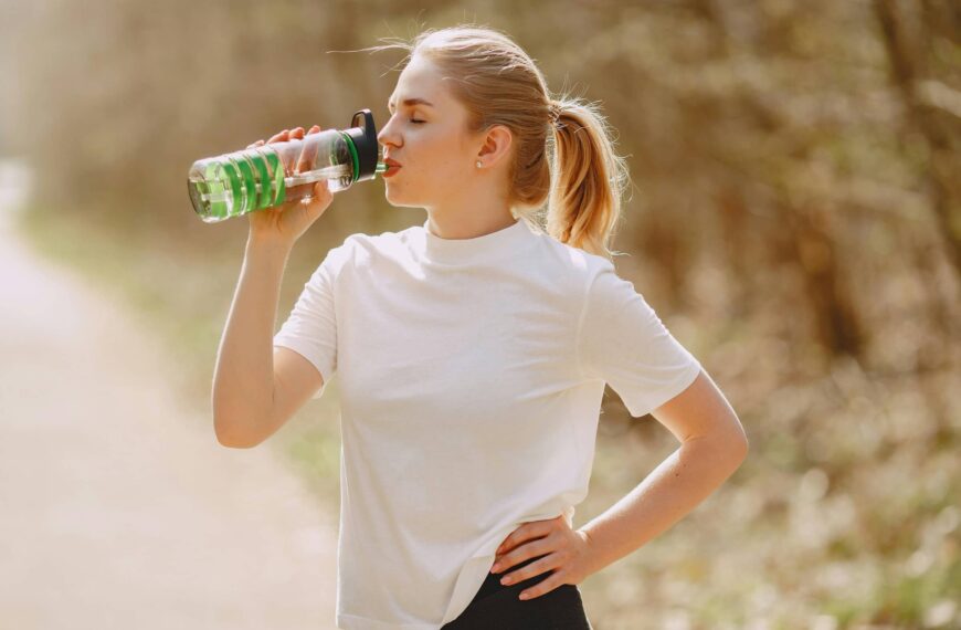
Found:
<path fill-rule="evenodd" d="M 378 138 L 386 196 L 427 219 L 328 252 L 271 356 L 287 255 L 331 195 L 318 183 L 309 202 L 249 214 L 214 375 L 218 439 L 262 442 L 339 375 L 338 628 L 590 628 L 577 585 L 719 486 L 746 456 L 743 430 L 615 273 L 606 242 L 626 171 L 596 109 L 551 98 L 490 29 L 378 48 L 394 46 L 410 54 Z M 605 384 L 682 447 L 574 529 Z"/>

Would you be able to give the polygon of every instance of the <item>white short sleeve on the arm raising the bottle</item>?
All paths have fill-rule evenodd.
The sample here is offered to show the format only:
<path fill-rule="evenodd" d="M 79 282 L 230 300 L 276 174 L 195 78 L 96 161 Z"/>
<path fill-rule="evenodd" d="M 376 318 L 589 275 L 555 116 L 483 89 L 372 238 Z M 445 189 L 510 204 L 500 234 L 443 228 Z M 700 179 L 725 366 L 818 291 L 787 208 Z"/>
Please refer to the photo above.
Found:
<path fill-rule="evenodd" d="M 311 399 L 320 398 L 337 370 L 337 316 L 335 283 L 346 245 L 330 250 L 304 284 L 291 315 L 274 335 L 274 347 L 289 348 L 314 364 L 324 385 Z"/>

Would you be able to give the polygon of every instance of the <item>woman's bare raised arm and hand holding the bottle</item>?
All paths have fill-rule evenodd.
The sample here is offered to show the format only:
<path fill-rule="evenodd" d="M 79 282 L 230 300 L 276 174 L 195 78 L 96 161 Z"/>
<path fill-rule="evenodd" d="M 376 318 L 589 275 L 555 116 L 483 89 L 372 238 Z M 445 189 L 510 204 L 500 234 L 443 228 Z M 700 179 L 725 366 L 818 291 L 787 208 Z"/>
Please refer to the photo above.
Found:
<path fill-rule="evenodd" d="M 320 127 L 315 125 L 308 133 L 320 133 Z M 293 132 L 285 129 L 270 143 L 292 137 L 303 138 L 303 127 Z M 263 144 L 263 140 L 257 140 L 251 147 Z M 302 172 L 307 165 L 308 157 L 302 156 L 298 164 L 286 167 Z M 218 349 L 211 391 L 214 433 L 224 447 L 258 444 L 319 387 L 316 380 L 320 375 L 306 359 L 282 357 L 286 360 L 278 361 L 282 370 L 278 375 L 273 349 L 281 281 L 287 259 L 297 239 L 332 200 L 326 180 L 304 186 L 313 186 L 309 200 L 299 200 L 306 191 L 291 189 L 288 192 L 294 192 L 291 201 L 247 214 L 250 234 L 240 281 Z M 277 382 L 286 385 L 278 390 Z"/>

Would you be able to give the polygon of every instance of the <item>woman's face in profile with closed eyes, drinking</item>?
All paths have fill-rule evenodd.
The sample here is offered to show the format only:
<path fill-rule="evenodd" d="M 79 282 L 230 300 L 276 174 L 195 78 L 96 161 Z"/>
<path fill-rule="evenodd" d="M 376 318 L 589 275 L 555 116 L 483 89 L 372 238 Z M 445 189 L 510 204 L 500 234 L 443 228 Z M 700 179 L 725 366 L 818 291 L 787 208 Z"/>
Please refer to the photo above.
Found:
<path fill-rule="evenodd" d="M 401 165 L 384 179 L 388 201 L 442 209 L 468 200 L 479 178 L 489 175 L 489 170 L 478 172 L 475 161 L 497 159 L 483 155 L 489 153 L 485 145 L 490 141 L 484 134 L 467 133 L 467 111 L 448 94 L 436 66 L 414 55 L 401 72 L 388 108 L 391 117 L 378 141 L 383 157 Z"/>

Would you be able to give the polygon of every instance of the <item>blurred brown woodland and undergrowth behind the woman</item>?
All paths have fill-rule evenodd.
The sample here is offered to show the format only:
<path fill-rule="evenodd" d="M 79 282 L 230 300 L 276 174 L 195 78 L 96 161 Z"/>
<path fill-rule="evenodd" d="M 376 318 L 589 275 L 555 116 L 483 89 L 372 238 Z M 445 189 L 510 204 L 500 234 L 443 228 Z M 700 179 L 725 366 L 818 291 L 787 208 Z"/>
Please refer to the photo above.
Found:
<path fill-rule="evenodd" d="M 282 128 L 344 127 L 362 107 L 386 120 L 401 54 L 335 51 L 461 22 L 508 32 L 553 91 L 602 102 L 634 182 L 619 272 L 701 359 L 751 442 L 695 513 L 582 585 L 595 628 L 961 627 L 957 2 L 0 11 L 0 140 L 38 174 L 34 234 L 59 234 L 51 253 L 68 261 L 67 242 L 109 252 L 133 270 L 125 287 L 155 292 L 141 303 L 158 323 L 196 323 L 181 328 L 194 330 L 198 398 L 246 221 L 193 214 L 190 164 Z M 281 316 L 347 234 L 422 220 L 387 204 L 380 183 L 339 193 L 295 250 Z M 105 242 L 116 246 L 92 244 Z M 307 411 L 320 405 L 319 421 L 305 413 L 282 435 L 332 498 L 336 407 Z M 676 448 L 610 393 L 601 433 L 579 523 Z"/>

